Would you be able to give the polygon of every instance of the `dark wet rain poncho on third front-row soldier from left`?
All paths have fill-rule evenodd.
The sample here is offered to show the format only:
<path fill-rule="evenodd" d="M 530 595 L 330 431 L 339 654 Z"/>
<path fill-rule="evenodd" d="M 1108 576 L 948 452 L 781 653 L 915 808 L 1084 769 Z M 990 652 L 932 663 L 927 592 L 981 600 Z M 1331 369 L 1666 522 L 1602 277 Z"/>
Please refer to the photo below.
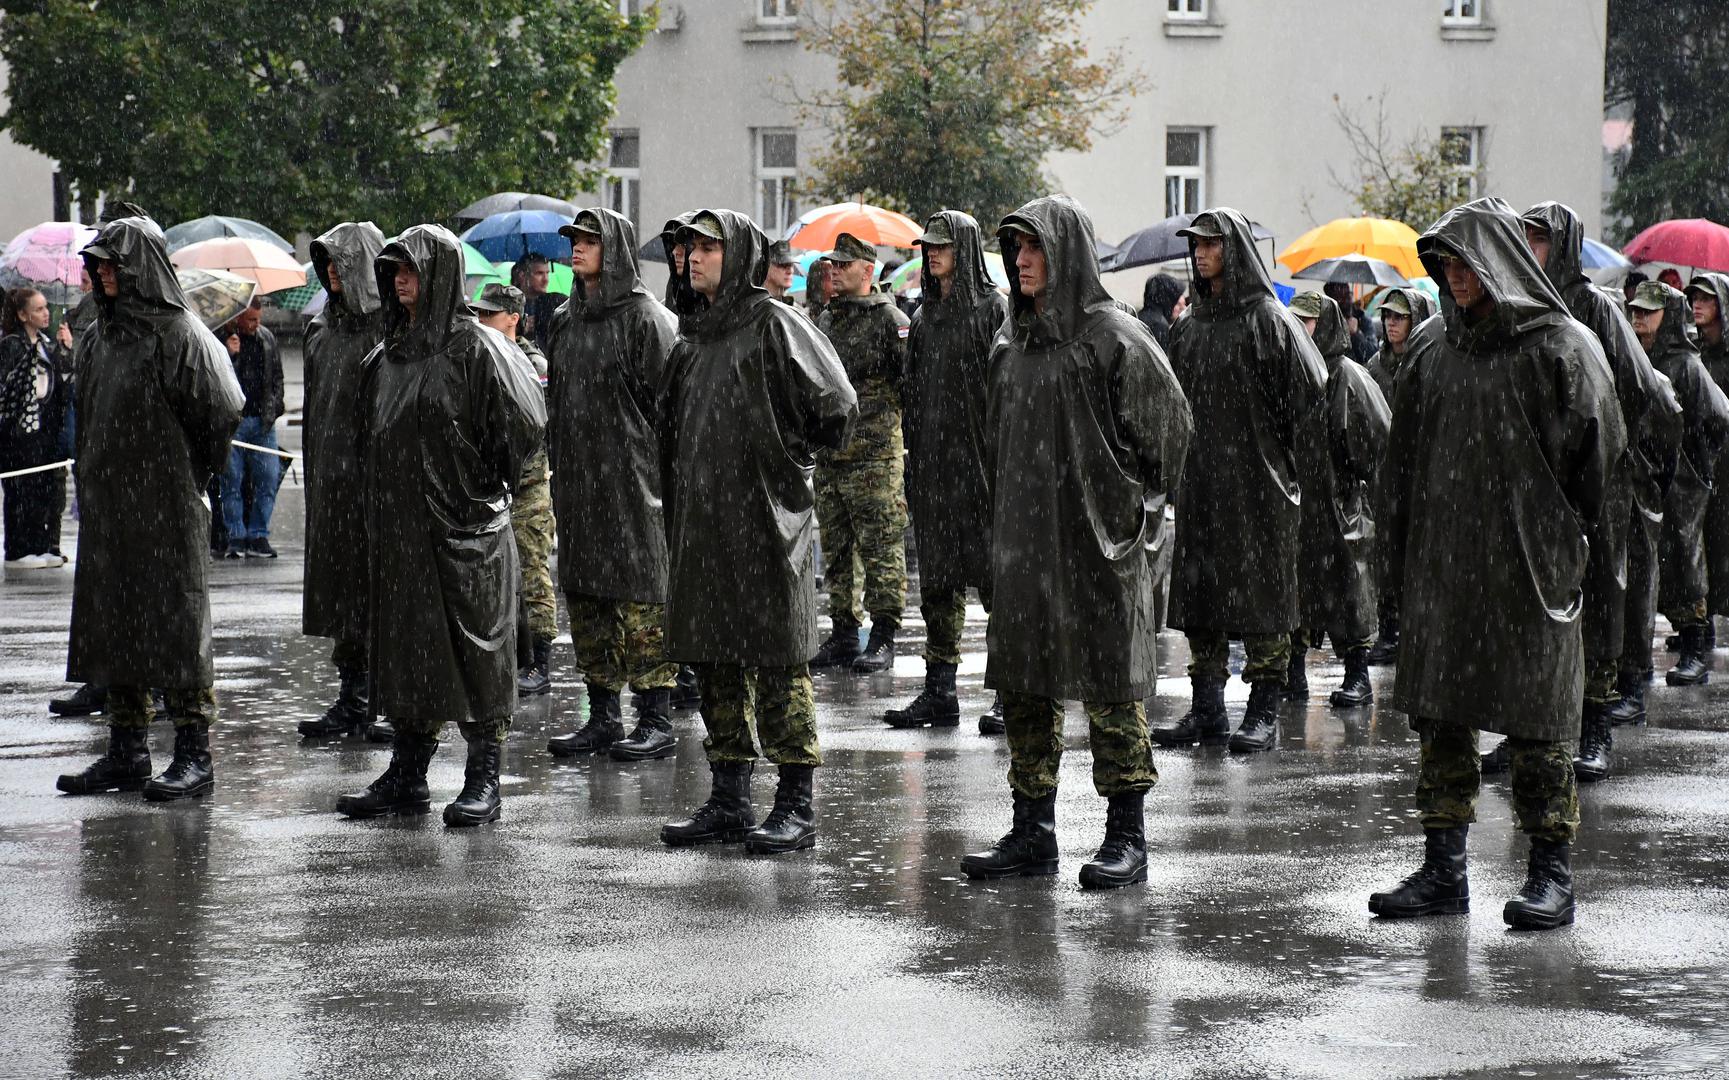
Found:
<path fill-rule="evenodd" d="M 660 389 L 666 651 L 790 667 L 816 653 L 816 451 L 847 444 L 858 397 L 828 339 L 762 289 L 768 237 L 735 211 L 702 214 L 726 257 L 712 304 L 686 266 Z"/>

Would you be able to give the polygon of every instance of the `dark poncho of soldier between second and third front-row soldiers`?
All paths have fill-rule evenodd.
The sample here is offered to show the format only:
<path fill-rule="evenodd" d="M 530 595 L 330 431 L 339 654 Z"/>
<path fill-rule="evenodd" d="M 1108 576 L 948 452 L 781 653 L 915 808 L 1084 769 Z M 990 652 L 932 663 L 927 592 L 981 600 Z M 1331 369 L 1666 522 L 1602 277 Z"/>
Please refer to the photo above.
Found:
<path fill-rule="evenodd" d="M 609 209 L 577 214 L 600 230 L 600 289 L 581 278 L 552 318 L 546 441 L 565 593 L 666 601 L 659 391 L 678 320 L 636 268 L 636 230 Z"/>

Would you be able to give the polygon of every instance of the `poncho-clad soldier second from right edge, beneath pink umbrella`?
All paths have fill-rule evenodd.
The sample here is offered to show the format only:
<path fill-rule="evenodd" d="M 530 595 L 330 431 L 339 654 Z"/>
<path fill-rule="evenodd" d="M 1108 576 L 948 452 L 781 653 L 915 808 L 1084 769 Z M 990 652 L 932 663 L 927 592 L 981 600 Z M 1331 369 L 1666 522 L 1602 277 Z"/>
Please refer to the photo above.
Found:
<path fill-rule="evenodd" d="M 1729 399 L 1700 361 L 1693 342 L 1693 302 L 1684 292 L 1663 282 L 1641 282 L 1629 308 L 1651 366 L 1668 378 L 1681 401 L 1681 458 L 1663 498 L 1663 527 L 1656 537 L 1656 608 L 1681 634 L 1681 657 L 1668 670 L 1668 684 L 1696 686 L 1708 683 L 1712 672 L 1705 645 L 1710 626 L 1705 511 L 1717 454 L 1729 439 Z M 1637 632 L 1649 648 L 1649 626 L 1629 627 L 1629 632 Z M 1629 645 L 1637 651 L 1639 639 Z"/>

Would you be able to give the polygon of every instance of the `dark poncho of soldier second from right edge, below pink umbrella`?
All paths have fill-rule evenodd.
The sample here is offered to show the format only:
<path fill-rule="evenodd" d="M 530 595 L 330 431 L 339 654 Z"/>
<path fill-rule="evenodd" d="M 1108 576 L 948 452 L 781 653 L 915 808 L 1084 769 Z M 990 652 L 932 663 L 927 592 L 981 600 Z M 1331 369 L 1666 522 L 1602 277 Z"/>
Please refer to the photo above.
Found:
<path fill-rule="evenodd" d="M 1675 477 L 1663 499 L 1663 527 L 1656 534 L 1656 608 L 1675 612 L 1707 596 L 1705 513 L 1717 458 L 1729 441 L 1729 399 L 1700 361 L 1693 302 L 1675 289 L 1663 287 L 1663 292 L 1667 304 L 1651 346 L 1651 365 L 1675 389 L 1682 434 Z"/>

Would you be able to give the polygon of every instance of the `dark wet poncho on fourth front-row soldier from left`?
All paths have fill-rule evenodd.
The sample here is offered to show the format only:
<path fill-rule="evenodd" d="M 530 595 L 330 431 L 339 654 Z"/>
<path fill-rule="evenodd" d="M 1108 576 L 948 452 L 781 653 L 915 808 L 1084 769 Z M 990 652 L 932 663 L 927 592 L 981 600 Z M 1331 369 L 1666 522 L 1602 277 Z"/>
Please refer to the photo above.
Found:
<path fill-rule="evenodd" d="M 1015 292 L 991 351 L 991 565 L 986 686 L 1056 700 L 1139 702 L 1157 683 L 1148 496 L 1177 486 L 1193 425 L 1145 325 L 1098 280 L 1093 221 L 1067 195 L 1003 219 L 1048 268 L 1044 311 Z"/>

